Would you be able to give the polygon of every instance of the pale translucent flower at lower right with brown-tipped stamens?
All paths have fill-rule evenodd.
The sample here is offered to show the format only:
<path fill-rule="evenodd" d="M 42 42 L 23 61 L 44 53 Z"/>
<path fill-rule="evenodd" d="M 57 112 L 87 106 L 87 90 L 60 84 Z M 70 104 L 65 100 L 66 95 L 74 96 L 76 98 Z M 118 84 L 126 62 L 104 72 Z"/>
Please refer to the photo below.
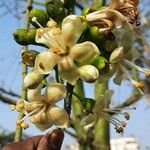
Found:
<path fill-rule="evenodd" d="M 103 118 L 115 126 L 116 132 L 118 133 L 122 132 L 123 128 L 126 125 L 126 122 L 114 118 L 113 116 L 110 115 L 110 113 L 122 114 L 124 118 L 126 118 L 127 120 L 129 120 L 130 116 L 127 112 L 124 113 L 120 112 L 121 109 L 111 110 L 108 108 L 111 102 L 112 95 L 113 95 L 112 90 L 107 90 L 103 95 L 100 95 L 96 100 L 92 114 L 90 113 L 87 116 L 85 116 L 81 120 L 81 125 L 83 126 L 88 126 L 90 124 L 94 125 L 94 122 L 97 123 L 99 119 Z"/>

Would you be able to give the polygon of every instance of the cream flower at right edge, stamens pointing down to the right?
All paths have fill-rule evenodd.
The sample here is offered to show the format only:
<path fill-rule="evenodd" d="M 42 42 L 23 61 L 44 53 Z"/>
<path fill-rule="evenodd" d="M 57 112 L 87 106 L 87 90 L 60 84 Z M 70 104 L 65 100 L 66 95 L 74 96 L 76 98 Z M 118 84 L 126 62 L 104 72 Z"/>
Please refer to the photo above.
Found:
<path fill-rule="evenodd" d="M 124 51 L 123 47 L 118 47 L 112 52 L 112 54 L 110 55 L 109 62 L 112 65 L 113 72 L 109 75 L 112 76 L 113 74 L 115 74 L 115 77 L 113 79 L 115 84 L 120 85 L 123 80 L 123 77 L 125 77 L 129 81 L 131 81 L 134 87 L 138 89 L 143 88 L 143 82 L 138 82 L 132 79 L 132 76 L 128 71 L 128 68 L 133 68 L 137 71 L 144 73 L 146 77 L 150 77 L 149 70 L 139 67 L 134 63 L 134 61 L 137 58 L 139 58 L 139 53 L 135 49 L 131 49 L 130 51 L 126 52 Z M 107 76 L 105 76 L 105 74 L 103 76 L 99 76 L 99 82 L 105 81 L 104 79 L 108 79 Z"/>

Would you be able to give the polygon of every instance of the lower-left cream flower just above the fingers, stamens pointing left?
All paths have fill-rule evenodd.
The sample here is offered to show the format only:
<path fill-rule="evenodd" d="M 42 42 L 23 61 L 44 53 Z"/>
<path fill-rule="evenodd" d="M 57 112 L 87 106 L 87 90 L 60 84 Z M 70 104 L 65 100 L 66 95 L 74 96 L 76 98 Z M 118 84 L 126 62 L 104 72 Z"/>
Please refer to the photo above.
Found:
<path fill-rule="evenodd" d="M 66 97 L 66 88 L 63 84 L 53 83 L 41 94 L 41 86 L 28 90 L 28 100 L 18 102 L 16 108 L 30 118 L 30 121 L 40 130 L 46 130 L 52 125 L 59 128 L 67 128 L 69 116 L 65 109 L 55 105 L 56 102 Z M 18 125 L 24 126 L 24 118 L 18 121 Z M 25 126 L 24 126 L 25 127 Z"/>

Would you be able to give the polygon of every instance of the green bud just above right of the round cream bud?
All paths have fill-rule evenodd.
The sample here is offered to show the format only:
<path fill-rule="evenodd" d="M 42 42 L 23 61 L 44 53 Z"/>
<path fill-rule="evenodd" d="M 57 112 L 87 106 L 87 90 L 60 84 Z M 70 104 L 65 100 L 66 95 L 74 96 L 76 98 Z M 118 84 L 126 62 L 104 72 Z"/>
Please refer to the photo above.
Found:
<path fill-rule="evenodd" d="M 102 70 L 108 64 L 107 60 L 103 56 L 96 57 L 91 65 L 95 66 L 98 70 Z"/>

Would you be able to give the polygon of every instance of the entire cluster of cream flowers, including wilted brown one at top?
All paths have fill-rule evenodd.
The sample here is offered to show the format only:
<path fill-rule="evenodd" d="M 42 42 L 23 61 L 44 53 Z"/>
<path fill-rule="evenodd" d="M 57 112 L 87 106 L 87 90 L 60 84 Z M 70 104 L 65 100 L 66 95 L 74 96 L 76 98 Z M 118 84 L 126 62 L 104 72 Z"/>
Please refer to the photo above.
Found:
<path fill-rule="evenodd" d="M 138 52 L 133 48 L 133 24 L 139 24 L 137 5 L 138 0 L 111 0 L 108 7 L 87 13 L 85 17 L 69 15 L 61 24 L 57 24 L 53 19 L 47 22 L 46 19 L 42 25 L 41 17 L 38 20 L 38 15 L 32 16 L 31 22 L 38 28 L 34 40 L 31 38 L 33 41 L 25 41 L 25 43 L 36 43 L 46 47 L 47 50 L 41 53 L 30 51 L 22 54 L 23 63 L 33 67 L 24 78 L 24 87 L 28 89 L 28 101 L 21 100 L 11 109 L 23 112 L 25 117 L 28 116 L 30 121 L 41 130 L 52 125 L 66 128 L 70 116 L 65 109 L 55 104 L 66 98 L 68 93 L 66 82 L 75 86 L 80 78 L 88 83 L 94 83 L 96 80 L 102 83 L 114 75 L 114 83 L 120 85 L 125 76 L 134 87 L 142 89 L 143 83 L 133 80 L 129 73 L 129 68 L 134 68 L 144 73 L 146 77 L 150 76 L 149 70 L 134 63 L 139 57 Z M 41 14 L 45 13 L 42 11 Z M 47 18 L 47 14 L 45 17 Z M 90 29 L 93 26 L 98 29 L 98 34 L 94 33 L 97 37 L 87 40 L 85 34 L 92 32 Z M 105 33 L 111 33 L 117 41 L 117 47 L 108 50 L 109 52 L 103 46 L 107 40 Z M 103 50 L 100 52 L 100 49 Z M 102 63 L 101 58 L 107 62 L 106 66 L 93 63 L 94 60 Z M 53 70 L 59 83 L 46 83 L 44 89 L 43 82 L 47 81 L 47 76 Z M 123 131 L 126 122 L 110 115 L 119 113 L 120 109 L 108 109 L 112 94 L 111 90 L 107 90 L 96 100 L 95 105 L 91 107 L 92 110 L 90 109 L 89 114 L 86 114 L 87 116 L 81 121 L 84 126 L 104 118 L 115 126 L 118 133 Z M 123 114 L 127 120 L 130 117 L 128 112 L 120 114 Z M 26 129 L 28 124 L 24 122 L 24 118 L 18 120 L 17 125 Z"/>

